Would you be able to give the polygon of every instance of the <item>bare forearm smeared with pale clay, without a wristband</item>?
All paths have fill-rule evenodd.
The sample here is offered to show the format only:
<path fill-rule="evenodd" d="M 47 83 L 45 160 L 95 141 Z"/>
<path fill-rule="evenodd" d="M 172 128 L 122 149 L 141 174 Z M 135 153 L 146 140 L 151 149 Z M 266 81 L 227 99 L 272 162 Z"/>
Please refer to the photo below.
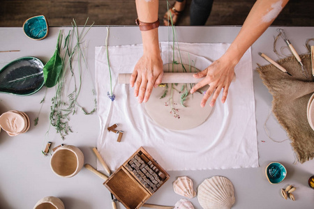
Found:
<path fill-rule="evenodd" d="M 241 31 L 225 53 L 234 64 L 238 63 L 246 50 L 253 45 L 271 25 L 288 0 L 257 0 L 246 17 Z"/>

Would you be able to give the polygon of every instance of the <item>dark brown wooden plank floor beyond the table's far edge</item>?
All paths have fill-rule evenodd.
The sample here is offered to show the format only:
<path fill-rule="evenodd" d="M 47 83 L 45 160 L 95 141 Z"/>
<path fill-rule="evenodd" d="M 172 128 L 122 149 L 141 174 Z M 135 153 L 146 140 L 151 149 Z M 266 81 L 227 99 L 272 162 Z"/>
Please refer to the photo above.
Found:
<path fill-rule="evenodd" d="M 189 25 L 188 0 L 184 15 L 178 25 Z M 254 4 L 254 0 L 215 0 L 207 25 L 241 25 Z M 170 1 L 172 3 L 172 1 Z M 160 0 L 159 18 L 167 10 L 167 1 Z M 68 26 L 75 18 L 77 24 L 134 25 L 136 10 L 134 0 L 1 0 L 0 26 L 22 26 L 24 20 L 35 15 L 45 15 L 50 26 Z M 290 0 L 276 26 L 314 26 L 314 1 Z"/>

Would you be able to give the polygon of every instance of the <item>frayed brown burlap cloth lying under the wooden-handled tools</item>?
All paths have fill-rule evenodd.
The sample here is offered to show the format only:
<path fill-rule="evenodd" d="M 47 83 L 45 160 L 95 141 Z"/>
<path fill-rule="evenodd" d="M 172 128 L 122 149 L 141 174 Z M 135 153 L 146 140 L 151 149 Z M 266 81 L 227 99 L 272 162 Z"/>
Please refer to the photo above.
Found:
<path fill-rule="evenodd" d="M 257 72 L 273 95 L 274 116 L 292 141 L 297 160 L 304 163 L 314 157 L 314 131 L 308 124 L 306 113 L 308 100 L 314 92 L 314 82 L 311 56 L 306 54 L 301 59 L 308 72 L 308 79 L 302 75 L 301 65 L 293 56 L 277 61 L 292 76 L 281 72 L 274 65 L 259 65 Z"/>

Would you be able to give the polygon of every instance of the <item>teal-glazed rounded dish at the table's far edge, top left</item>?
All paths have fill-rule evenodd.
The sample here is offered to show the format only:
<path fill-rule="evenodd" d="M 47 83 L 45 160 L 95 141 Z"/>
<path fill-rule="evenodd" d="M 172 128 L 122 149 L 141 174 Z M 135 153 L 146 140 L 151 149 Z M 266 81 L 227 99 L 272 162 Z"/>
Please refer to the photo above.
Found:
<path fill-rule="evenodd" d="M 26 36 L 34 40 L 42 40 L 48 35 L 49 27 L 44 15 L 27 19 L 23 24 Z"/>

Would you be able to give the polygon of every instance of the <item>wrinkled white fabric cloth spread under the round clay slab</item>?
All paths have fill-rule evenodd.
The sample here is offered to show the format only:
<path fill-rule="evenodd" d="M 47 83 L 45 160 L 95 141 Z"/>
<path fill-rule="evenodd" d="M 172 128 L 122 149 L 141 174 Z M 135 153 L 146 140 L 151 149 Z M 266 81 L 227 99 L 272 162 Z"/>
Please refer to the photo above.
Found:
<path fill-rule="evenodd" d="M 179 42 L 181 52 L 209 61 L 222 56 L 229 45 Z M 120 167 L 140 146 L 167 171 L 258 167 L 251 48 L 235 68 L 236 79 L 229 88 L 225 104 L 220 102 L 220 93 L 207 121 L 184 131 L 167 130 L 157 125 L 147 114 L 144 104 L 137 102 L 134 89 L 128 84 L 118 84 L 119 73 L 133 72 L 142 56 L 142 45 L 108 47 L 112 87 L 116 96 L 114 102 L 107 96 L 110 75 L 106 49 L 96 47 L 95 50 L 100 118 L 97 148 L 112 171 Z M 169 63 L 172 55 L 168 53 L 172 54 L 172 45 L 160 42 L 160 50 L 163 63 Z M 180 62 L 177 58 L 176 61 Z M 195 67 L 200 70 L 207 66 L 208 63 L 195 62 Z M 107 127 L 114 123 L 119 125 L 117 130 L 124 131 L 120 143 L 117 142 L 117 134 L 107 132 Z M 100 164 L 98 169 L 102 170 Z"/>

